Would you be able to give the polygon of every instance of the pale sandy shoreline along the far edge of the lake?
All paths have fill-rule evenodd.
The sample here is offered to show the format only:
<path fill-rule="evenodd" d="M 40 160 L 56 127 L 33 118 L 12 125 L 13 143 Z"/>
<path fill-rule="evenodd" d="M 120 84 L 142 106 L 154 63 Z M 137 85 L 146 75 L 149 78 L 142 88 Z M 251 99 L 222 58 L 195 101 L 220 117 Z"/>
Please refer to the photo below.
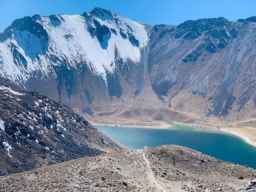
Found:
<path fill-rule="evenodd" d="M 213 130 L 213 131 L 221 131 L 225 133 L 229 133 L 235 136 L 242 138 L 248 144 L 256 147 L 256 143 L 250 140 L 248 136 L 244 133 L 234 130 L 234 128 L 219 128 L 219 127 L 210 127 L 210 126 L 203 126 L 198 124 L 186 124 L 186 123 L 179 123 L 179 122 L 139 122 L 139 121 L 128 121 L 128 122 L 91 122 L 92 125 L 107 125 L 107 126 L 124 126 L 124 127 L 131 127 L 131 128 L 157 128 L 157 129 L 166 129 L 171 128 L 172 124 L 179 124 L 184 126 L 192 126 L 203 128 L 206 130 Z"/>

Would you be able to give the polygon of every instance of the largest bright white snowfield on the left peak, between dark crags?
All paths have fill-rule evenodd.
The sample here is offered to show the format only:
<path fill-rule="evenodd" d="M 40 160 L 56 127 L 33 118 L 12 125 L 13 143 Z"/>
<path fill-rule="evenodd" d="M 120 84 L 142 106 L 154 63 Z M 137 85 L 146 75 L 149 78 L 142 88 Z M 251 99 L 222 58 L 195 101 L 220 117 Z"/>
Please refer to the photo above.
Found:
<path fill-rule="evenodd" d="M 49 35 L 49 44 L 53 48 L 52 50 L 54 50 L 51 51 L 51 54 L 58 56 L 58 58 L 65 56 L 73 67 L 76 68 L 77 62 L 82 59 L 90 63 L 92 65 L 91 70 L 98 76 L 102 76 L 106 81 L 106 70 L 113 72 L 115 69 L 115 65 L 112 65 L 113 63 L 115 64 L 115 48 L 124 61 L 140 62 L 140 50 L 148 42 L 148 34 L 143 25 L 122 16 L 116 16 L 120 20 L 120 26 L 117 26 L 111 20 L 103 21 L 99 18 L 94 18 L 101 25 L 113 28 L 117 32 L 117 35 L 112 33 L 108 41 L 108 47 L 105 50 L 101 48 L 96 37 L 91 37 L 90 32 L 87 30 L 88 23 L 83 16 L 59 15 L 58 17 L 62 18 L 62 23 L 56 27 L 50 24 L 49 17 L 41 17 L 43 22 L 39 22 L 44 26 Z M 92 26 L 94 26 L 93 23 Z M 127 26 L 134 30 L 133 34 L 140 42 L 139 47 L 132 46 L 128 39 L 124 40 L 120 35 L 120 28 L 125 33 L 128 32 Z M 65 34 L 70 34 L 71 40 L 67 39 Z"/>

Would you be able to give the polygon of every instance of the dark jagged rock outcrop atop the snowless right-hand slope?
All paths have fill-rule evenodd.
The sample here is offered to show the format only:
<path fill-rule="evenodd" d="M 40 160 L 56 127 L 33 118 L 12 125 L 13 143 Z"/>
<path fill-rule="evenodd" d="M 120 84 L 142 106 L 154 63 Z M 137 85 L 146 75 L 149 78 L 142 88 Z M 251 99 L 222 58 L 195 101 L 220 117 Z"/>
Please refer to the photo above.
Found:
<path fill-rule="evenodd" d="M 166 34 L 174 36 L 176 39 L 183 38 L 189 41 L 204 37 L 202 44 L 182 59 L 185 63 L 194 63 L 200 55 L 204 54 L 204 51 L 215 53 L 218 48 L 225 48 L 228 45 L 228 40 L 237 38 L 238 30 L 236 28 L 229 29 L 229 24 L 230 21 L 223 17 L 188 20 L 178 25 L 176 30 L 172 29 L 166 32 L 166 29 L 163 29 L 159 38 Z"/>

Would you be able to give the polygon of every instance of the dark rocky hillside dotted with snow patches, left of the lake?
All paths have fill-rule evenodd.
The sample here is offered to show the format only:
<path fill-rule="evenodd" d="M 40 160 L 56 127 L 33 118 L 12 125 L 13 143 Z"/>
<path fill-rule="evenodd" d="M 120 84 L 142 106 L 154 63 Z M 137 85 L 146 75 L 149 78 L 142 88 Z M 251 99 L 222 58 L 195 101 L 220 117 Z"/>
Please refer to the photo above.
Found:
<path fill-rule="evenodd" d="M 118 149 L 68 107 L 0 78 L 0 175 Z"/>

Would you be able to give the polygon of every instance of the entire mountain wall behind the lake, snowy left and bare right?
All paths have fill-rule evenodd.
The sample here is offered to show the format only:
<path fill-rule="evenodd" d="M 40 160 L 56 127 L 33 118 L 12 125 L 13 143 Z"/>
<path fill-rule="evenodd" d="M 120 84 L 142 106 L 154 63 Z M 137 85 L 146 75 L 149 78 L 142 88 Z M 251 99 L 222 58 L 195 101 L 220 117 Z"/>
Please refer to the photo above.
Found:
<path fill-rule="evenodd" d="M 152 27 L 100 8 L 35 15 L 0 34 L 0 75 L 94 120 L 254 122 L 255 25 L 220 17 Z"/>

